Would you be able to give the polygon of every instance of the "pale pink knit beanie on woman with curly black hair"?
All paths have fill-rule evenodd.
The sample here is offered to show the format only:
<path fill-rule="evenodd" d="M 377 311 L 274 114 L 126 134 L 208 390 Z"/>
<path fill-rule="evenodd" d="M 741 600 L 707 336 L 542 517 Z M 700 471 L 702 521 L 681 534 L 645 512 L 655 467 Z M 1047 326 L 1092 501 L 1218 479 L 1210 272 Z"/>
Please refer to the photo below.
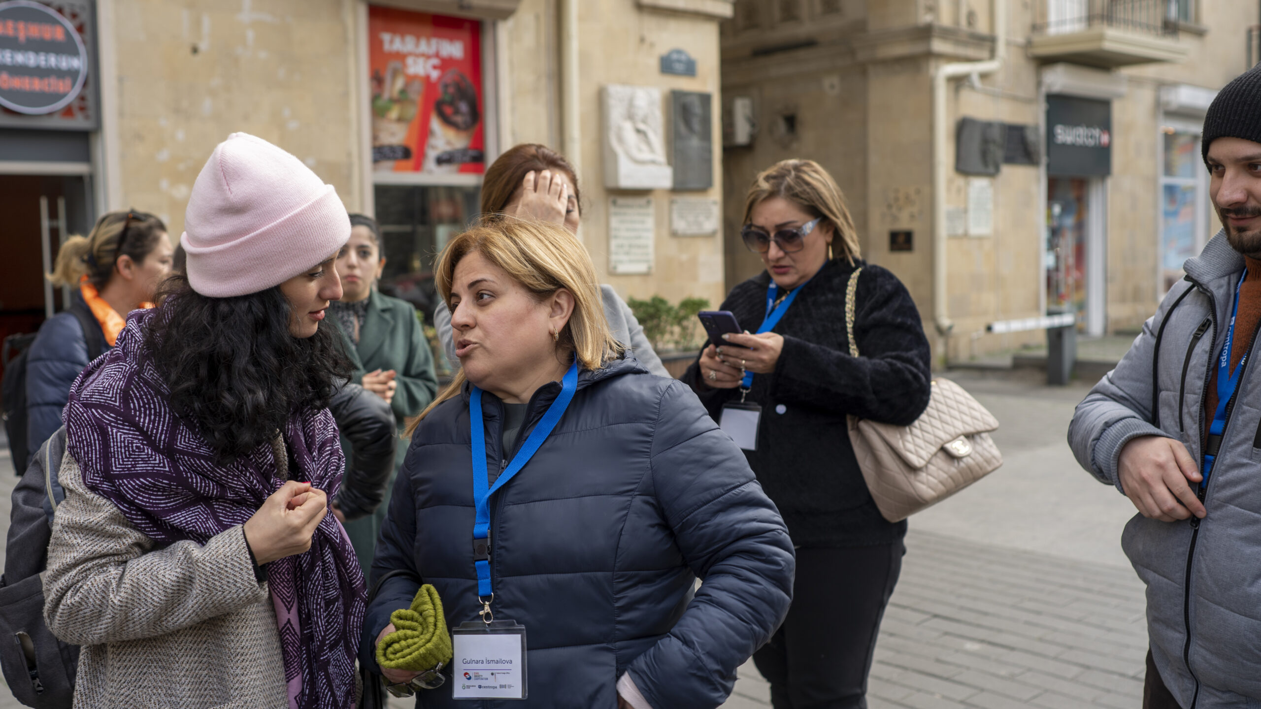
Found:
<path fill-rule="evenodd" d="M 351 218 L 333 185 L 301 160 L 233 132 L 197 175 L 184 230 L 189 285 L 232 298 L 280 285 L 332 256 L 351 238 Z"/>

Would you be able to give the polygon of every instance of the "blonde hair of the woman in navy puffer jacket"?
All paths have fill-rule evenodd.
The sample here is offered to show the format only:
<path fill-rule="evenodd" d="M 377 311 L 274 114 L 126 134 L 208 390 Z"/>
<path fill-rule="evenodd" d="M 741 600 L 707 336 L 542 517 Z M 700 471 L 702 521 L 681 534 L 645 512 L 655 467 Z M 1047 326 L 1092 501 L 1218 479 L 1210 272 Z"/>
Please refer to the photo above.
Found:
<path fill-rule="evenodd" d="M 564 227 L 501 214 L 456 236 L 446 243 L 434 266 L 434 285 L 443 296 L 439 308 L 450 302 L 455 266 L 474 252 L 502 269 L 540 302 L 562 288 L 574 294 L 574 313 L 559 333 L 556 349 L 576 357 L 580 367 L 599 370 L 622 356 L 625 348 L 613 337 L 604 317 L 604 300 L 591 257 Z M 405 435 L 411 435 L 435 406 L 459 395 L 465 381 L 460 368 L 451 384 L 407 424 Z"/>

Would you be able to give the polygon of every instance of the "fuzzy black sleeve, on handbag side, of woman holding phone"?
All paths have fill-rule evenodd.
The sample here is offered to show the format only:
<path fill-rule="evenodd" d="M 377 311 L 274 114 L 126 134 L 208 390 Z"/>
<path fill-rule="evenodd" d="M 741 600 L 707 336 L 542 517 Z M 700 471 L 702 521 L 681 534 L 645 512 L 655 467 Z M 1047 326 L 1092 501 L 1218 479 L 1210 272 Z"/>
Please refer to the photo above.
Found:
<path fill-rule="evenodd" d="M 854 338 L 859 356 L 784 336 L 770 392 L 836 415 L 909 425 L 932 390 L 932 354 L 907 288 L 879 266 L 859 275 Z M 835 327 L 844 328 L 840 319 Z"/>

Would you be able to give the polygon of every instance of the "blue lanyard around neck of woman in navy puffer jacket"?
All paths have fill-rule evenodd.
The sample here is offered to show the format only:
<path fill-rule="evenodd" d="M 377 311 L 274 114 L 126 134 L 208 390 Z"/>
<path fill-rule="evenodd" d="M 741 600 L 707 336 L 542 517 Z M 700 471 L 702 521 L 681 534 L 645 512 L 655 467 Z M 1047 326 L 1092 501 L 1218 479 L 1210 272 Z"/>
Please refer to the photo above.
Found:
<path fill-rule="evenodd" d="M 569 402 L 574 399 L 575 391 L 578 391 L 578 360 L 569 366 L 569 371 L 561 378 L 560 395 L 547 407 L 547 413 L 543 414 L 542 420 L 538 421 L 535 430 L 530 431 L 530 438 L 521 445 L 517 454 L 512 457 L 512 462 L 499 473 L 499 477 L 492 486 L 489 484 L 489 473 L 485 469 L 485 428 L 482 418 L 482 390 L 475 386 L 473 387 L 472 396 L 469 397 L 469 433 L 473 438 L 473 505 L 477 510 L 477 519 L 473 522 L 473 566 L 477 569 L 477 593 L 479 598 L 483 595 L 492 598 L 494 595 L 491 590 L 491 496 L 507 484 L 533 458 L 535 453 L 543 444 L 543 440 L 556 428 L 560 418 L 565 415 L 565 409 L 569 409 Z"/>

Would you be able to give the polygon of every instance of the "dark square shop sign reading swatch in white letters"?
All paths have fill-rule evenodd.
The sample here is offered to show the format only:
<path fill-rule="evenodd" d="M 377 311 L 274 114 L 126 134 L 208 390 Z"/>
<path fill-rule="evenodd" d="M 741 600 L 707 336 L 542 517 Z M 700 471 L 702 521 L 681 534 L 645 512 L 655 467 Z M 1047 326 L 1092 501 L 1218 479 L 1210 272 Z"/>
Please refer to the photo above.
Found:
<path fill-rule="evenodd" d="M 1047 174 L 1112 173 L 1112 103 L 1076 96 L 1047 97 Z"/>

